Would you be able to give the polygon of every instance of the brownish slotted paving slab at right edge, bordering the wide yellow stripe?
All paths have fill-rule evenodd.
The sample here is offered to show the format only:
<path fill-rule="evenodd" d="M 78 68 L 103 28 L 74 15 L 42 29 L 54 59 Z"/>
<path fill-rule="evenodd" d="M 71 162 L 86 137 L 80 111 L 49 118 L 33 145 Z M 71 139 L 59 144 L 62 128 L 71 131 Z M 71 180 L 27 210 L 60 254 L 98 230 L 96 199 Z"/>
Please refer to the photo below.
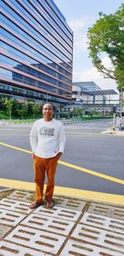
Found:
<path fill-rule="evenodd" d="M 92 203 L 88 212 L 124 220 L 124 207 L 121 206 Z"/>

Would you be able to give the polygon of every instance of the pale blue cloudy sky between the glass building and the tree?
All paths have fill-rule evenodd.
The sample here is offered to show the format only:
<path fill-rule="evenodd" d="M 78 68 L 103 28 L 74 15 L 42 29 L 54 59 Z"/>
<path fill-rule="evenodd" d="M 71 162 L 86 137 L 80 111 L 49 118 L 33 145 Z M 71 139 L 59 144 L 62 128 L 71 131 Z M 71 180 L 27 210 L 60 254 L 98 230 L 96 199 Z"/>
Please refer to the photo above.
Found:
<path fill-rule="evenodd" d="M 122 0 L 54 0 L 64 15 L 69 27 L 74 31 L 73 82 L 94 81 L 101 89 L 115 89 L 115 80 L 104 79 L 93 67 L 88 57 L 88 27 L 99 19 L 98 12 L 112 14 L 122 5 Z M 103 63 L 109 65 L 107 56 Z"/>

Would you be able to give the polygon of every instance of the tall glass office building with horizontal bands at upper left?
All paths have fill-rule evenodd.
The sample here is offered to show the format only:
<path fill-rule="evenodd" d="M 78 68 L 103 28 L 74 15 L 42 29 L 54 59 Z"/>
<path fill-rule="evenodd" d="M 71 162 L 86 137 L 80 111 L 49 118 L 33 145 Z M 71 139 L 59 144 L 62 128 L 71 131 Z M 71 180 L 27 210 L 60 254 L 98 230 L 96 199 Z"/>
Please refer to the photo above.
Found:
<path fill-rule="evenodd" d="M 73 31 L 52 0 L 1 0 L 1 98 L 66 104 Z"/>

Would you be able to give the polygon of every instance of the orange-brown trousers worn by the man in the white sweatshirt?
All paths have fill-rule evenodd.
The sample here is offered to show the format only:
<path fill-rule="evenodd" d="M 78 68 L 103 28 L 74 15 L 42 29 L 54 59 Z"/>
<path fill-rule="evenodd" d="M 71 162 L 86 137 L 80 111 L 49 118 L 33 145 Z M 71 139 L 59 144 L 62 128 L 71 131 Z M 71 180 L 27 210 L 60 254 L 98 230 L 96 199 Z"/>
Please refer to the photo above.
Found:
<path fill-rule="evenodd" d="M 41 158 L 34 156 L 36 202 L 41 202 L 43 200 L 45 172 L 47 175 L 45 200 L 52 199 L 55 187 L 55 171 L 57 167 L 57 161 L 57 157 Z"/>

